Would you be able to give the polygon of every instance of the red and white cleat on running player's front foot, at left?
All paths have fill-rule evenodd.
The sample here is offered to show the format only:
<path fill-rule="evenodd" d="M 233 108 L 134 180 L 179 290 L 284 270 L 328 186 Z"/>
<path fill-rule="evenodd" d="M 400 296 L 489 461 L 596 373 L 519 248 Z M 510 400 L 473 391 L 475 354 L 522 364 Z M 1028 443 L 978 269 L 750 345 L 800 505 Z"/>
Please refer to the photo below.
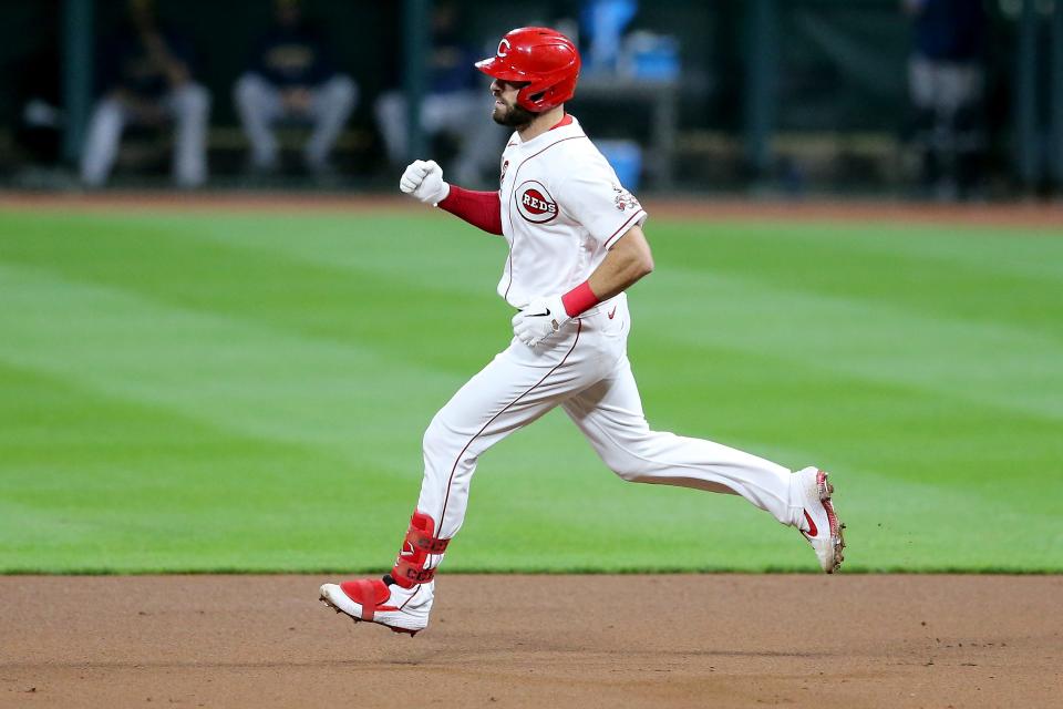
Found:
<path fill-rule="evenodd" d="M 435 583 L 403 588 L 379 578 L 321 586 L 321 600 L 354 623 L 376 623 L 395 633 L 416 635 L 429 626 Z"/>

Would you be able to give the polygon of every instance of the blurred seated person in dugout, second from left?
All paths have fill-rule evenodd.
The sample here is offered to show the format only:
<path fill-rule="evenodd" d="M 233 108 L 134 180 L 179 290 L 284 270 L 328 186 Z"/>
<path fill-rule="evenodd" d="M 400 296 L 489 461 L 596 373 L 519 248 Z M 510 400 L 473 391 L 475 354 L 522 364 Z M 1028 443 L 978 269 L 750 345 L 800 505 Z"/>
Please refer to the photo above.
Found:
<path fill-rule="evenodd" d="M 293 121 L 313 126 L 302 157 L 307 169 L 320 174 L 330 169 L 329 156 L 354 110 L 358 86 L 337 72 L 321 34 L 305 21 L 300 0 L 276 0 L 274 25 L 237 81 L 234 99 L 255 172 L 278 168 L 272 126 Z"/>

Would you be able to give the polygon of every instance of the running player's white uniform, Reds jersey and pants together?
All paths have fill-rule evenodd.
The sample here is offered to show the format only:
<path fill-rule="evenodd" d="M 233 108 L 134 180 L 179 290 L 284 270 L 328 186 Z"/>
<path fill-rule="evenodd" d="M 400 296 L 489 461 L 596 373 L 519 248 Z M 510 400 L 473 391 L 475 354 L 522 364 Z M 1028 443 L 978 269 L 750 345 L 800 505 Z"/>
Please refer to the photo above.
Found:
<path fill-rule="evenodd" d="M 499 197 L 509 255 L 498 294 L 516 308 L 587 280 L 616 240 L 647 218 L 571 116 L 526 143 L 514 133 Z M 625 480 L 736 493 L 784 524 L 797 523 L 803 502 L 791 491 L 789 470 L 650 430 L 627 356 L 630 329 L 620 294 L 534 349 L 514 338 L 454 394 L 424 435 L 417 510 L 433 517 L 436 536 L 461 528 L 478 456 L 557 405 Z"/>

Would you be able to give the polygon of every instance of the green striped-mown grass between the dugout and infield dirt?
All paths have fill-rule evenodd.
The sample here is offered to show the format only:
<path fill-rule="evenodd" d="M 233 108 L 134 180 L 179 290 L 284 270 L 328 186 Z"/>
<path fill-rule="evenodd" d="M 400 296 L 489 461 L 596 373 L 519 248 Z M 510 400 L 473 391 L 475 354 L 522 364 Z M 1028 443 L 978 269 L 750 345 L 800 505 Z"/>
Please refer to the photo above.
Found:
<path fill-rule="evenodd" d="M 1063 228 L 648 233 L 654 428 L 828 467 L 847 571 L 1063 572 Z M 414 207 L 0 213 L 0 572 L 384 568 L 425 424 L 508 342 L 505 254 Z M 554 412 L 483 456 L 445 567 L 816 565 L 737 497 L 621 482 Z"/>

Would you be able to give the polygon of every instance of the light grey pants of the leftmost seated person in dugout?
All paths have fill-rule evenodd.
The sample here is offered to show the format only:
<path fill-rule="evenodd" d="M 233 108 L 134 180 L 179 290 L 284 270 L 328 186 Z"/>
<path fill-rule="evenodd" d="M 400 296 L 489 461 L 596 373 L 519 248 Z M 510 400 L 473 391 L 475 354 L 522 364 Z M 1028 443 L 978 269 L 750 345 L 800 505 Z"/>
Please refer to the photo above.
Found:
<path fill-rule="evenodd" d="M 174 121 L 174 181 L 182 187 L 196 187 L 207 178 L 207 119 L 210 94 L 197 83 L 174 89 L 161 100 Z M 92 187 L 107 181 L 118 156 L 122 131 L 135 116 L 117 99 L 103 99 L 89 121 L 81 155 L 81 178 Z"/>

